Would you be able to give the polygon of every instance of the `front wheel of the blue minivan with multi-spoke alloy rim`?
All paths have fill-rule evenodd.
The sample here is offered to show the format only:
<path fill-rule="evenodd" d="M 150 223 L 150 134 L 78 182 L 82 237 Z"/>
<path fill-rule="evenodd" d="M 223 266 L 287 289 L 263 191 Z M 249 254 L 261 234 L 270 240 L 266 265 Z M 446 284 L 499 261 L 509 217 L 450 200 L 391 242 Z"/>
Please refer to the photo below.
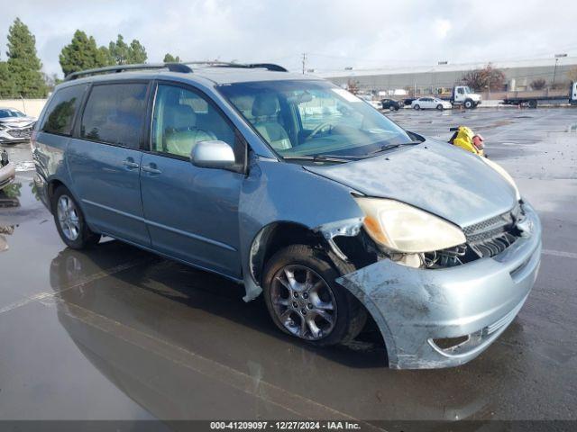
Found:
<path fill-rule="evenodd" d="M 285 247 L 265 266 L 262 287 L 270 318 L 283 332 L 316 346 L 343 344 L 361 332 L 367 313 L 353 294 L 336 284 L 353 266 L 335 268 L 307 245 Z"/>

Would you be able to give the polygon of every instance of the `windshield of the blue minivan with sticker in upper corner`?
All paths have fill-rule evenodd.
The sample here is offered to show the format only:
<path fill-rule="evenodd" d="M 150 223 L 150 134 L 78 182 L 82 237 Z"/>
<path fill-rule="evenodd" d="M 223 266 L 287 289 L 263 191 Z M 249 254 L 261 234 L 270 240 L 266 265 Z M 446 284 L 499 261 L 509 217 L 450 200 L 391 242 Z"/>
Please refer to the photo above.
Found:
<path fill-rule="evenodd" d="M 411 141 L 370 104 L 325 81 L 221 85 L 280 157 L 369 157 Z"/>

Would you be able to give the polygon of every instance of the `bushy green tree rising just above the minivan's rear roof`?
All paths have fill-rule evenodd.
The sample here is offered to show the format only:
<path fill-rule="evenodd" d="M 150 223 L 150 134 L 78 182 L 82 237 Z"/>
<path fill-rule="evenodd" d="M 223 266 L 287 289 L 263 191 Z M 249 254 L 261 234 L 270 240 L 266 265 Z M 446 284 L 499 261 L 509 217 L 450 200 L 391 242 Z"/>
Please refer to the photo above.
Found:
<path fill-rule="evenodd" d="M 75 31 L 69 45 L 60 51 L 60 67 L 64 76 L 79 70 L 109 65 L 110 56 L 107 49 L 105 52 L 103 48 L 96 48 L 96 40 L 84 31 Z"/>

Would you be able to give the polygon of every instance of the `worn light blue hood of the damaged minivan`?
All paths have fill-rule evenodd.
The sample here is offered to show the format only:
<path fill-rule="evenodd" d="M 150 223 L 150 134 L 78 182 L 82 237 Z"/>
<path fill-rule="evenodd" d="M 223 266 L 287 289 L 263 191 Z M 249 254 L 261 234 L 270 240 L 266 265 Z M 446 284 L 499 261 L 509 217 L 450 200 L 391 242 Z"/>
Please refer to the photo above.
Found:
<path fill-rule="evenodd" d="M 355 162 L 305 169 L 368 196 L 406 202 L 466 227 L 506 211 L 515 189 L 480 157 L 427 139 Z"/>

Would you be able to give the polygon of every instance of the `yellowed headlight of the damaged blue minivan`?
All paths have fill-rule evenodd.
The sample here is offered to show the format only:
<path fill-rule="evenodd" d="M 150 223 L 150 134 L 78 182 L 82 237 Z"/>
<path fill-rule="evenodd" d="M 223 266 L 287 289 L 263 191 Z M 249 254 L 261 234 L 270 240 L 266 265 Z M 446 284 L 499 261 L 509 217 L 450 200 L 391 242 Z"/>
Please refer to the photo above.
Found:
<path fill-rule="evenodd" d="M 463 231 L 446 220 L 403 202 L 355 198 L 364 211 L 364 228 L 391 251 L 413 254 L 462 245 Z"/>

